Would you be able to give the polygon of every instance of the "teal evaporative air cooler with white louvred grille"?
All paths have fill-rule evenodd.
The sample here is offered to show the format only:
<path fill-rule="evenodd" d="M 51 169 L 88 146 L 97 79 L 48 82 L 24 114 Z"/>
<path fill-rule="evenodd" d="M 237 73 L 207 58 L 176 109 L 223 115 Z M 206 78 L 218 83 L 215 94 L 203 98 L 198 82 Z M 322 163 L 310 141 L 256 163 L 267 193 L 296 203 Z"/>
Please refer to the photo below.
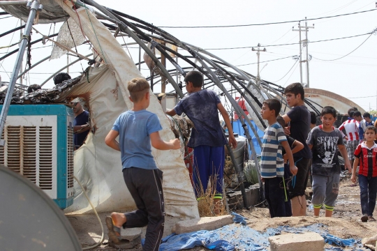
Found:
<path fill-rule="evenodd" d="M 1 164 L 29 178 L 60 208 L 73 204 L 71 107 L 10 105 L 1 139 Z"/>

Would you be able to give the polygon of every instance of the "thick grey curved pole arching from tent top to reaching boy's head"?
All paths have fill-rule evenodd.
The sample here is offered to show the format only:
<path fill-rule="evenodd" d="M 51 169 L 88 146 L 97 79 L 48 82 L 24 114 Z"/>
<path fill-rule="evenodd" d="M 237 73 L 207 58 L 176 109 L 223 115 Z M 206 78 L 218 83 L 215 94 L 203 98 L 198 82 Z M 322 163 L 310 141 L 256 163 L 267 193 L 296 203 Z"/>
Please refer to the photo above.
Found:
<path fill-rule="evenodd" d="M 128 35 L 130 35 L 133 38 L 133 40 L 135 40 L 136 43 L 138 43 L 140 45 L 140 47 L 142 47 L 142 49 L 145 50 L 145 52 L 147 52 L 147 54 L 151 57 L 151 59 L 154 61 L 154 63 L 156 63 L 156 65 L 158 66 L 158 68 L 161 69 L 161 71 L 163 72 L 163 74 L 165 75 L 165 77 L 169 80 L 170 84 L 172 84 L 172 86 L 174 87 L 174 89 L 177 91 L 179 97 L 180 98 L 184 97 L 181 89 L 179 89 L 179 87 L 178 87 L 178 84 L 175 82 L 174 79 L 172 79 L 172 77 L 170 76 L 170 74 L 168 74 L 168 71 L 165 69 L 165 67 L 163 67 L 162 63 L 160 61 L 158 61 L 158 59 L 156 58 L 156 56 L 151 52 L 151 50 L 149 50 L 149 48 L 147 47 L 147 45 L 145 45 L 142 42 L 142 40 L 140 40 L 140 38 L 138 38 L 138 36 L 136 36 L 135 33 L 133 33 L 128 28 L 128 26 L 126 26 L 126 24 L 124 24 L 124 22 L 119 21 L 117 19 L 117 17 L 115 17 L 112 13 L 110 13 L 109 10 L 107 10 L 103 6 L 99 5 L 95 1 L 87 0 L 86 2 L 91 3 L 92 6 L 95 6 L 96 8 L 98 8 L 98 10 L 101 10 L 104 14 L 108 15 L 110 17 L 110 19 L 112 19 L 111 20 L 112 22 L 114 22 L 114 20 L 115 20 L 117 22 L 117 24 L 119 24 L 119 28 L 123 29 L 124 32 L 126 32 Z"/>

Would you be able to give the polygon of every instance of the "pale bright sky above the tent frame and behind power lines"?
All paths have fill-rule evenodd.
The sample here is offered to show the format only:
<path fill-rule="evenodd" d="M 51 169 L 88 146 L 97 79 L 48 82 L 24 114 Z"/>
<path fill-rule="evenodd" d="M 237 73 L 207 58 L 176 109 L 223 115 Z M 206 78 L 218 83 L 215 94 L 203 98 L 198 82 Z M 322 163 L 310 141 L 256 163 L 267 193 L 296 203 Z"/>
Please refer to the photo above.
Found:
<path fill-rule="evenodd" d="M 121 12 L 138 17 L 156 26 L 228 26 L 243 24 L 265 24 L 286 22 L 283 24 L 269 24 L 259 26 L 237 26 L 229 28 L 195 28 L 195 29 L 174 29 L 163 28 L 179 40 L 191 43 L 204 49 L 221 49 L 234 47 L 256 47 L 260 43 L 266 46 L 267 52 L 260 54 L 260 75 L 263 79 L 286 86 L 293 82 L 300 82 L 300 66 L 292 56 L 299 54 L 299 45 L 282 45 L 299 42 L 297 29 L 298 22 L 287 22 L 295 20 L 328 17 L 343 15 L 364 10 L 376 9 L 376 1 L 370 0 L 332 0 L 332 1 L 119 1 L 119 0 L 98 0 L 98 3 L 114 8 Z M 1 18 L 1 17 L 0 17 Z M 318 40 L 330 40 L 369 33 L 377 27 L 377 10 L 355 15 L 343 15 L 326 19 L 310 20 L 308 38 L 310 42 Z M 6 25 L 0 26 L 0 32 L 7 31 L 17 26 L 17 20 L 13 17 L 0 20 Z M 304 22 L 301 22 L 304 25 Z M 58 31 L 60 24 L 39 24 L 37 29 L 45 34 Z M 304 33 L 302 33 L 304 36 Z M 15 43 L 20 39 L 20 33 L 0 38 L 0 46 Z M 39 38 L 34 33 L 34 38 Z M 344 38 L 339 40 L 309 43 L 309 54 L 312 56 L 309 62 L 310 87 L 332 91 L 346 98 L 350 98 L 366 110 L 377 109 L 377 53 L 375 35 L 357 36 L 355 38 Z M 368 38 L 368 39 L 367 39 Z M 302 38 L 304 39 L 304 38 Z M 131 38 L 124 38 L 126 43 L 132 42 Z M 123 40 L 119 40 L 124 43 Z M 51 45 L 51 43 L 47 43 Z M 361 46 L 360 46 L 361 45 Z M 41 44 L 34 47 L 43 46 Z M 359 47 L 360 46 L 360 47 Z M 357 48 L 358 47 L 358 48 Z M 1 49 L 0 56 L 7 50 Z M 355 50 L 357 49 L 357 50 Z M 88 45 L 82 45 L 80 52 L 89 54 Z M 128 49 L 133 59 L 138 60 L 138 48 Z M 355 50 L 353 52 L 353 50 Z M 32 63 L 51 51 L 51 47 L 35 49 Z M 37 52 L 35 54 L 35 52 Z M 257 56 L 251 48 L 235 50 L 209 50 L 216 56 L 239 66 L 243 70 L 256 75 Z M 352 52 L 351 54 L 349 54 Z M 349 54 L 348 56 L 345 56 Z M 342 59 L 339 59 L 343 57 Z M 334 60 L 336 59 L 336 60 Z M 23 82 L 27 84 L 40 84 L 43 79 L 52 75 L 66 63 L 66 56 L 61 59 L 50 61 L 44 66 L 38 66 L 31 70 L 28 79 Z M 75 60 L 70 57 L 70 61 Z M 275 61 L 272 61 L 275 60 Z M 3 81 L 8 81 L 10 72 L 13 69 L 15 56 L 6 59 L 0 68 L 0 75 Z M 268 62 L 264 62 L 268 61 Z M 245 65 L 245 66 L 240 66 Z M 82 68 L 86 68 L 86 61 L 73 68 L 70 68 L 74 77 Z M 144 68 L 146 68 L 144 66 Z M 306 66 L 303 64 L 303 68 Z M 48 73 L 48 74 L 46 74 Z M 149 71 L 142 70 L 145 77 Z M 303 82 L 306 82 L 306 70 L 303 70 Z M 52 81 L 45 87 L 52 86 Z"/>

